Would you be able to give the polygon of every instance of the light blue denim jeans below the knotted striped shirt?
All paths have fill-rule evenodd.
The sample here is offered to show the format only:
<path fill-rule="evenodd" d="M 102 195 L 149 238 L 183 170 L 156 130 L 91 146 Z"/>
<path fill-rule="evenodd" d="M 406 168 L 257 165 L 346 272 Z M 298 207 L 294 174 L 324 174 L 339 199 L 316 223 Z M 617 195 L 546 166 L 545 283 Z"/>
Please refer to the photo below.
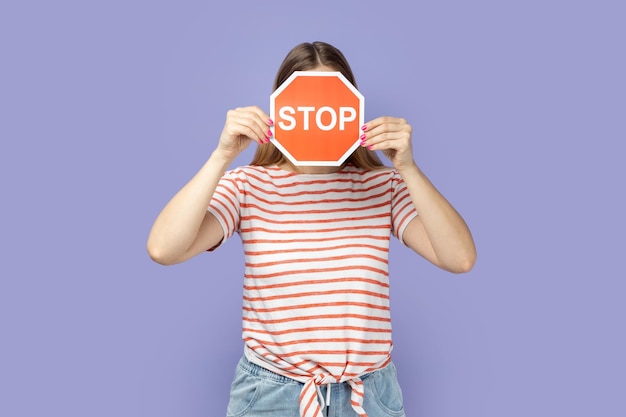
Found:
<path fill-rule="evenodd" d="M 405 417 L 402 392 L 392 362 L 361 376 L 365 389 L 363 408 L 368 417 Z M 227 417 L 299 417 L 303 384 L 249 362 L 245 356 L 235 371 Z M 327 386 L 322 386 L 326 397 Z M 358 417 L 350 405 L 351 387 L 331 384 L 327 417 Z M 324 410 L 326 415 L 326 410 Z"/>

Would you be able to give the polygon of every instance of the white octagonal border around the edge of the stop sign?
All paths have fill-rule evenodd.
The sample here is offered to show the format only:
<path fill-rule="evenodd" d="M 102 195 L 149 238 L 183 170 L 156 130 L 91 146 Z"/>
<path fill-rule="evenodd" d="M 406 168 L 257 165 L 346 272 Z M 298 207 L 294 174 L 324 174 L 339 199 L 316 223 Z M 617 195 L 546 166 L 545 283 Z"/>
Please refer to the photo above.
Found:
<path fill-rule="evenodd" d="M 363 94 L 361 94 L 361 92 L 357 90 L 356 87 L 353 86 L 352 83 L 348 81 L 348 79 L 339 71 L 294 71 L 293 74 L 291 74 L 289 78 L 287 78 L 285 82 L 282 83 L 276 89 L 276 91 L 274 91 L 272 95 L 270 96 L 270 118 L 272 120 L 275 121 L 277 119 L 276 113 L 275 113 L 276 109 L 274 106 L 274 101 L 276 99 L 276 96 L 278 96 L 285 88 L 287 88 L 287 86 L 291 84 L 292 81 L 296 79 L 297 77 L 337 77 L 339 78 L 346 85 L 346 87 L 348 87 L 350 91 L 352 91 L 352 93 L 355 96 L 357 96 L 359 99 L 359 124 L 358 124 L 359 128 L 365 124 L 365 97 L 363 97 Z M 348 151 L 346 151 L 345 154 L 343 154 L 343 156 L 338 161 L 296 161 L 295 158 L 287 151 L 287 149 L 285 149 L 285 147 L 281 145 L 280 142 L 277 141 L 276 138 L 274 137 L 274 126 L 271 126 L 271 130 L 272 130 L 272 138 L 270 140 L 272 141 L 274 146 L 276 146 L 282 152 L 282 154 L 285 155 L 287 159 L 289 159 L 291 163 L 296 166 L 341 166 L 341 164 L 343 164 L 345 160 L 348 159 L 350 155 L 352 155 L 352 153 L 357 149 L 357 147 L 360 146 L 360 142 L 361 142 L 359 139 L 359 133 L 361 131 L 357 130 L 357 132 L 355 132 L 355 135 L 354 135 L 355 137 L 354 144 L 350 147 L 350 149 L 348 149 Z"/>

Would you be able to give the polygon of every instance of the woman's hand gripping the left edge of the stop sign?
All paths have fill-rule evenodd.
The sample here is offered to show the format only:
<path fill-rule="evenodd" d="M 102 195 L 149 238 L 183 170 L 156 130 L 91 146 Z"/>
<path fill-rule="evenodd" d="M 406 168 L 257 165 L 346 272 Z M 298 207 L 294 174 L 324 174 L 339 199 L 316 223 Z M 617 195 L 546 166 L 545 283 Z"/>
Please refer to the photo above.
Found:
<path fill-rule="evenodd" d="M 269 143 L 272 124 L 269 116 L 257 106 L 229 110 L 216 151 L 232 161 L 253 141 L 259 145 Z"/>

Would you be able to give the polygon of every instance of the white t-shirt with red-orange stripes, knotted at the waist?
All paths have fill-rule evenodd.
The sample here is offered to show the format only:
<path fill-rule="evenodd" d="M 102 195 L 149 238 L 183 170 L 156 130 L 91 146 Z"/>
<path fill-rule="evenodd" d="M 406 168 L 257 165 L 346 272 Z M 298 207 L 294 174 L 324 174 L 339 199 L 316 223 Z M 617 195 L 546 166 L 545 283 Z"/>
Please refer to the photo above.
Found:
<path fill-rule="evenodd" d="M 391 358 L 389 239 L 417 215 L 400 174 L 245 166 L 224 174 L 209 211 L 243 243 L 246 357 L 305 383 L 303 416 L 320 415 L 315 385 L 345 381 L 365 415 L 359 376 Z"/>

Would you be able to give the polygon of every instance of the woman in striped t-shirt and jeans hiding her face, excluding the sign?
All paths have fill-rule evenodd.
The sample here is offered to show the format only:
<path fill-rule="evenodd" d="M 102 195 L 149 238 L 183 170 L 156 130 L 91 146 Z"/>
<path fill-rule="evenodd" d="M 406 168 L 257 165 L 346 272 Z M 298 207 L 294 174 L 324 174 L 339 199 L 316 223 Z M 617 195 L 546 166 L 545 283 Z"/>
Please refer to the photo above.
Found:
<path fill-rule="evenodd" d="M 274 89 L 308 70 L 340 71 L 356 86 L 343 54 L 314 42 L 288 53 Z M 154 222 L 148 252 L 174 264 L 241 236 L 244 356 L 229 416 L 403 416 L 391 362 L 390 236 L 461 273 L 476 259 L 471 233 L 416 165 L 404 119 L 366 123 L 341 167 L 294 166 L 272 144 L 272 125 L 256 106 L 228 112 L 208 161 Z M 251 164 L 226 172 L 252 142 Z"/>

